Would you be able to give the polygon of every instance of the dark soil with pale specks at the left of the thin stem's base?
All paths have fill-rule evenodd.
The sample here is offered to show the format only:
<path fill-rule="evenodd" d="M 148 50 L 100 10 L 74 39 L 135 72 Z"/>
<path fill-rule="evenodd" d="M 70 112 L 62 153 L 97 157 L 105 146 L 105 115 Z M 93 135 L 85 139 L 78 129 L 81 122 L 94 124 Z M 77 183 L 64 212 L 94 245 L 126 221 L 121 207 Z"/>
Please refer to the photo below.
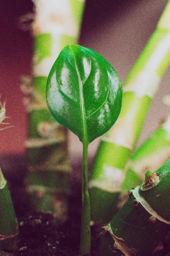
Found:
<path fill-rule="evenodd" d="M 72 211 L 64 224 L 54 222 L 50 214 L 30 213 L 18 218 L 20 236 L 14 256 L 78 256 L 80 243 L 80 207 L 70 198 Z M 77 204 L 78 203 L 78 204 Z M 96 228 L 92 228 L 92 256 L 95 256 Z"/>

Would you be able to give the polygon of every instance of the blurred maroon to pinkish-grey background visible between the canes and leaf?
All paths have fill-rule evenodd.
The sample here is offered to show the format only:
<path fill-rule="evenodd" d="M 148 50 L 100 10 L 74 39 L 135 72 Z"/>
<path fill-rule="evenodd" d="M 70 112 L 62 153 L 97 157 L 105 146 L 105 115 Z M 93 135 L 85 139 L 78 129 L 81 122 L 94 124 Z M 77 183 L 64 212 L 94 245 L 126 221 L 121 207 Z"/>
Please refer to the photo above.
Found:
<path fill-rule="evenodd" d="M 62 0 L 61 0 L 62 1 Z M 86 0 L 79 44 L 100 53 L 110 62 L 122 83 L 155 30 L 167 0 Z M 20 90 L 20 77 L 31 75 L 33 38 L 21 30 L 19 17 L 33 10 L 31 0 L 0 0 L 0 95 L 14 127 L 0 132 L 0 157 L 24 155 L 27 113 Z M 165 73 L 147 115 L 138 145 L 170 112 L 162 98 L 170 94 L 170 68 Z M 81 143 L 69 134 L 69 151 L 76 161 Z M 99 139 L 90 144 L 90 157 Z"/>

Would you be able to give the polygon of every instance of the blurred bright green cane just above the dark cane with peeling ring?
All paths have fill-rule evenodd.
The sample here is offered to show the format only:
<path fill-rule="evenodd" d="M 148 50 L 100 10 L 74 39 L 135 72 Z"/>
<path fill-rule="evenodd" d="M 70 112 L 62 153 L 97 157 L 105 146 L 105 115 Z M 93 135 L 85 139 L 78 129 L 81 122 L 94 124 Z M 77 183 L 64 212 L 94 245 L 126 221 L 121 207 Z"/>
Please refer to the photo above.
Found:
<path fill-rule="evenodd" d="M 146 170 L 156 171 L 169 158 L 170 115 L 132 155 L 122 184 L 122 193 L 140 184 Z"/>

